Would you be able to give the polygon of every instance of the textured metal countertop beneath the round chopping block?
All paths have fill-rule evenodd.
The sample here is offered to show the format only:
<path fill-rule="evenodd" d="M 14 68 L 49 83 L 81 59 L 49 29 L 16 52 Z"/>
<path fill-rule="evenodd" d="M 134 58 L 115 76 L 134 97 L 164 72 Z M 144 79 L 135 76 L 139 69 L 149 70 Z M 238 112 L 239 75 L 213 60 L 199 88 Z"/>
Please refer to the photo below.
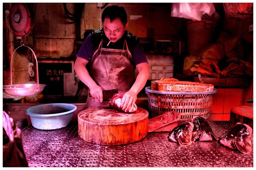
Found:
<path fill-rule="evenodd" d="M 229 121 L 209 123 L 217 137 L 231 127 Z M 167 135 L 152 132 L 132 144 L 100 146 L 79 137 L 77 122 L 58 130 L 38 130 L 31 125 L 22 129 L 30 167 L 253 167 L 253 151 L 245 155 L 217 141 L 181 147 Z"/>

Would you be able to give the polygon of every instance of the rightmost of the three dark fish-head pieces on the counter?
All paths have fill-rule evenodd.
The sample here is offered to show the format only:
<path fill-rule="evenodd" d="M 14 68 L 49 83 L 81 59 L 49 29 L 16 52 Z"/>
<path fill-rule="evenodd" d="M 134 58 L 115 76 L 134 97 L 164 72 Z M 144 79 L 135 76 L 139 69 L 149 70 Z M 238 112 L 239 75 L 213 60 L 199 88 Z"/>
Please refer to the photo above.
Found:
<path fill-rule="evenodd" d="M 227 130 L 218 141 L 228 148 L 237 148 L 240 152 L 249 154 L 252 151 L 251 135 L 252 128 L 250 126 L 237 123 L 230 130 Z"/>

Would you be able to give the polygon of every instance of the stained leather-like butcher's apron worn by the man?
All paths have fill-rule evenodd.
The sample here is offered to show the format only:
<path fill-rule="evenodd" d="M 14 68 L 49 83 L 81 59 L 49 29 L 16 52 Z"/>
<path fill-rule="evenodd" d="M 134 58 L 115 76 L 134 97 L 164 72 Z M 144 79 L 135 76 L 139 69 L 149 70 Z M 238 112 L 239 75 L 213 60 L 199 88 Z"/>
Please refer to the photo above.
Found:
<path fill-rule="evenodd" d="M 128 50 L 102 48 L 102 40 L 99 48 L 92 56 L 90 73 L 92 79 L 101 86 L 102 90 L 118 89 L 119 93 L 126 93 L 134 83 L 134 71 L 132 55 Z M 90 92 L 90 90 L 89 90 Z M 88 92 L 88 93 L 89 93 Z M 87 98 L 86 108 L 101 106 L 99 99 Z"/>

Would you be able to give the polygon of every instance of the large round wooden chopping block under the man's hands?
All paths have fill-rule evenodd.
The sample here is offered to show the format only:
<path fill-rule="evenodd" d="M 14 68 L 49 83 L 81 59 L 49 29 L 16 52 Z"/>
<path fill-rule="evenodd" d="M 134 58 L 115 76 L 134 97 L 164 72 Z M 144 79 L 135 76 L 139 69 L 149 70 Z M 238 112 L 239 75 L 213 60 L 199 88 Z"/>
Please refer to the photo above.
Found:
<path fill-rule="evenodd" d="M 146 137 L 148 112 L 142 108 L 132 114 L 101 106 L 88 108 L 78 114 L 78 133 L 92 144 L 130 144 Z"/>

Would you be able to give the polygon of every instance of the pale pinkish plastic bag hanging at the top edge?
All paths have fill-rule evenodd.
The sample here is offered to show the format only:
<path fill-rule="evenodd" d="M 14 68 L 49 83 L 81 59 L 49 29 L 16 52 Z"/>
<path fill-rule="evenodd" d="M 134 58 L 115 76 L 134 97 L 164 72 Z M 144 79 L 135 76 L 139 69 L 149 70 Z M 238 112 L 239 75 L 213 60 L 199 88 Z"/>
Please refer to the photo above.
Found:
<path fill-rule="evenodd" d="M 187 18 L 191 20 L 202 20 L 202 15 L 207 13 L 213 15 L 215 8 L 213 3 L 173 3 L 171 7 L 171 16 L 178 18 Z"/>

